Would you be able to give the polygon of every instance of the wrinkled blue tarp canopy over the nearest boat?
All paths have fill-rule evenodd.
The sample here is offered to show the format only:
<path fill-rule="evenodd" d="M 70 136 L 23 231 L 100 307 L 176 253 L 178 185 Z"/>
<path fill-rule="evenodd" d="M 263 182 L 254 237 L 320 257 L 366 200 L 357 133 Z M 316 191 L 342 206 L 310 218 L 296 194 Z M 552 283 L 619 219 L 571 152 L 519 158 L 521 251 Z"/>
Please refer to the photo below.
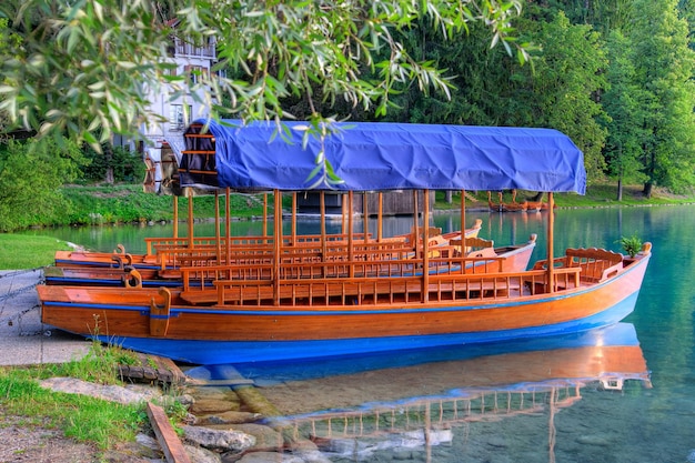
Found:
<path fill-rule="evenodd" d="M 321 143 L 302 144 L 306 122 L 284 122 L 291 142 L 274 122 L 209 122 L 214 135 L 219 188 L 239 191 L 306 190 Z M 193 129 L 198 127 L 198 129 Z M 325 155 L 344 183 L 319 189 L 508 190 L 585 193 L 584 155 L 570 138 L 551 129 L 435 125 L 386 122 L 336 123 L 325 139 Z M 187 144 L 193 143 L 189 140 Z M 195 150 L 195 147 L 187 147 Z M 184 157 L 185 158 L 185 157 Z M 210 164 L 210 162 L 209 162 Z M 195 183 L 182 175 L 181 184 Z"/>

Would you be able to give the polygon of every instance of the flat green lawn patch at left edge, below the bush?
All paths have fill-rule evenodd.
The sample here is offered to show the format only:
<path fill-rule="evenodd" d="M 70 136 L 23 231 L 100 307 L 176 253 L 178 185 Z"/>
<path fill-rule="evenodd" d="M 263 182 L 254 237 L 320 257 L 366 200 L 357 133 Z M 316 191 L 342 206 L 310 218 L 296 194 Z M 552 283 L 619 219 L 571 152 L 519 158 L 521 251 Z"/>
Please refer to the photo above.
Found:
<path fill-rule="evenodd" d="M 53 263 L 67 242 L 50 236 L 0 233 L 0 270 L 36 269 Z"/>

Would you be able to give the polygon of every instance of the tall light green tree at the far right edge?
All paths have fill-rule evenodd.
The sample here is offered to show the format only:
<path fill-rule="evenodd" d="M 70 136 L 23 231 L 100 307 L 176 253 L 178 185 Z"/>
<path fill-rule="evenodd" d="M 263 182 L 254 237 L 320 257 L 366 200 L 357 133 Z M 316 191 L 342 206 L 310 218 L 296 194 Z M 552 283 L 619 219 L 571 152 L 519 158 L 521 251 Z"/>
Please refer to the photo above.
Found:
<path fill-rule="evenodd" d="M 695 182 L 695 54 L 677 0 L 635 0 L 626 32 L 632 43 L 634 84 L 642 89 L 641 162 L 645 194 L 653 185 L 679 192 Z"/>

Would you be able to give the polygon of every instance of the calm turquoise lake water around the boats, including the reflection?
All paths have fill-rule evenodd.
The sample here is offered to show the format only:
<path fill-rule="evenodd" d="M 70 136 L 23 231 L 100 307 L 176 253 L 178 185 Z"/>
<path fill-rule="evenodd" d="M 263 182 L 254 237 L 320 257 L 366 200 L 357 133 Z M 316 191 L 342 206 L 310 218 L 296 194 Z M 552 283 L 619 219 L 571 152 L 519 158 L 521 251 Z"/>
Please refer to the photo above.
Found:
<path fill-rule="evenodd" d="M 545 213 L 470 212 L 469 223 L 474 218 L 484 220 L 480 235 L 500 245 L 537 233 L 533 259 L 544 256 Z M 460 228 L 457 214 L 434 222 Z M 385 234 L 410 227 L 410 219 L 389 220 Z M 261 229 L 233 224 L 234 234 Z M 213 224 L 199 230 L 214 234 Z M 93 250 L 123 243 L 134 253 L 144 250 L 143 236 L 170 236 L 171 227 L 53 232 Z M 652 241 L 654 255 L 635 312 L 614 329 L 235 371 L 333 462 L 695 462 L 695 207 L 560 210 L 555 250 L 620 251 L 616 241 L 635 233 Z"/>

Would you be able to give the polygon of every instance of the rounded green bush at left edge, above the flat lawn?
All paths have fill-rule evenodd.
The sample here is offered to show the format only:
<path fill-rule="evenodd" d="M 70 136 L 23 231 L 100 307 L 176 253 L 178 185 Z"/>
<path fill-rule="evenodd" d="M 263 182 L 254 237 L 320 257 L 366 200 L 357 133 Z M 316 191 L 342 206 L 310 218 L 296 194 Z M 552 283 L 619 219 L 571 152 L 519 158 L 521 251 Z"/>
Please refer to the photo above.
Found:
<path fill-rule="evenodd" d="M 0 151 L 0 231 L 54 223 L 56 214 L 69 210 L 60 187 L 83 163 L 69 140 L 8 142 Z"/>

